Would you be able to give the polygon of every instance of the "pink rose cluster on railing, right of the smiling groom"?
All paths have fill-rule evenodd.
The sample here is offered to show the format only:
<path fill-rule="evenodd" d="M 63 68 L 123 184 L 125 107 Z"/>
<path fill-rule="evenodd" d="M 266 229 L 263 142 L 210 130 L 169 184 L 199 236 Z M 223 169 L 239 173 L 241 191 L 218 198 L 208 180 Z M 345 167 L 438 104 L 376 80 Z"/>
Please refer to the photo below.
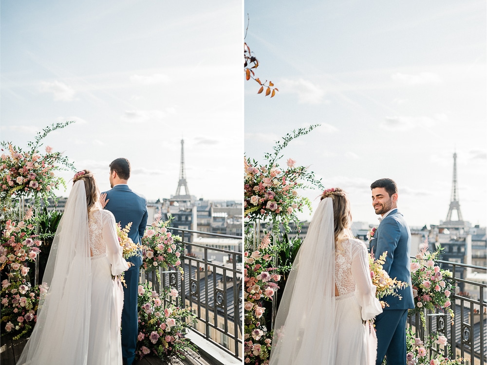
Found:
<path fill-rule="evenodd" d="M 439 309 L 448 312 L 453 321 L 454 313 L 450 308 L 452 285 L 448 280 L 452 274 L 449 270 L 443 270 L 435 264 L 435 260 L 441 251 L 442 248 L 440 247 L 435 252 L 430 253 L 428 251 L 428 239 L 426 239 L 420 252 L 411 261 L 414 309 L 410 312 L 421 313 L 423 323 L 425 323 L 425 309 Z"/>

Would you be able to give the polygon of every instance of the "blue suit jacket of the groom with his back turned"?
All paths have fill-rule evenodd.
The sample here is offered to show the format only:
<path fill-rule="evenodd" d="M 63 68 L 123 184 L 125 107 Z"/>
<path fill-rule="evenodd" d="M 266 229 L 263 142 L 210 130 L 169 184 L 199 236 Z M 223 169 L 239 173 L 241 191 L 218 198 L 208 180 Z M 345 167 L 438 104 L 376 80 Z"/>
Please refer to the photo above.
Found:
<path fill-rule="evenodd" d="M 125 184 L 113 186 L 106 194 L 106 199 L 110 201 L 105 205 L 105 209 L 113 213 L 115 221 L 119 222 L 122 228 L 132 222 L 129 237 L 133 242 L 141 243 L 148 218 L 146 198 L 133 192 Z M 131 256 L 127 261 L 133 263 L 129 270 L 138 270 L 142 264 L 142 256 Z"/>

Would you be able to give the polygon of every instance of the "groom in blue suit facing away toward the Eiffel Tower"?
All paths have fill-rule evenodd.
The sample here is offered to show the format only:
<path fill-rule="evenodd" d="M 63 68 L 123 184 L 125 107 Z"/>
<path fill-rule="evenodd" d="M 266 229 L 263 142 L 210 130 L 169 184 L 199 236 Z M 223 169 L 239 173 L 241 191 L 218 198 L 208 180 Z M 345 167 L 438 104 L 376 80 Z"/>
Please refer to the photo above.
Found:
<path fill-rule="evenodd" d="M 115 221 L 122 228 L 132 222 L 129 237 L 134 243 L 141 243 L 147 224 L 147 201 L 127 185 L 130 177 L 130 162 L 118 158 L 110 164 L 109 190 L 101 195 L 101 202 L 106 203 L 105 209 L 111 211 Z M 138 332 L 137 298 L 139 286 L 139 269 L 142 256 L 131 256 L 127 259 L 133 265 L 125 272 L 124 305 L 122 310 L 122 357 L 124 364 L 131 365 L 135 358 Z"/>

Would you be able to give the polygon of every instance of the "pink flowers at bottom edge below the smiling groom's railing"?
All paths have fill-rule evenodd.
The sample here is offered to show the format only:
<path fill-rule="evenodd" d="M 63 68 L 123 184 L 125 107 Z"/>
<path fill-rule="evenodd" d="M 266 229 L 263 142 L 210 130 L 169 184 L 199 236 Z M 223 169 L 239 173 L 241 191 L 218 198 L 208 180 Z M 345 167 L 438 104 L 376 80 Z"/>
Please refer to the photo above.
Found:
<path fill-rule="evenodd" d="M 450 359 L 442 354 L 441 350 L 445 347 L 447 353 L 451 353 L 447 338 L 443 335 L 431 335 L 425 343 L 414 335 L 410 327 L 406 336 L 406 365 L 462 365 L 466 361 L 462 358 Z M 434 347 L 436 351 L 431 351 L 432 357 L 430 357 L 430 349 Z"/>

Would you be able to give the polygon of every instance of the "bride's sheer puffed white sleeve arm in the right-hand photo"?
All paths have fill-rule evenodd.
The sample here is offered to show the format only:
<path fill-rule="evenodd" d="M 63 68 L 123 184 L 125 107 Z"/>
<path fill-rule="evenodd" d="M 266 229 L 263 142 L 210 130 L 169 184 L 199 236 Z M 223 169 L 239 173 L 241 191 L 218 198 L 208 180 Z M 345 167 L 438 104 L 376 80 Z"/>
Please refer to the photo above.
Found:
<path fill-rule="evenodd" d="M 382 307 L 375 297 L 376 288 L 370 278 L 369 258 L 364 244 L 352 248 L 352 275 L 356 283 L 356 298 L 362 307 L 362 319 L 372 319 L 382 312 Z"/>

